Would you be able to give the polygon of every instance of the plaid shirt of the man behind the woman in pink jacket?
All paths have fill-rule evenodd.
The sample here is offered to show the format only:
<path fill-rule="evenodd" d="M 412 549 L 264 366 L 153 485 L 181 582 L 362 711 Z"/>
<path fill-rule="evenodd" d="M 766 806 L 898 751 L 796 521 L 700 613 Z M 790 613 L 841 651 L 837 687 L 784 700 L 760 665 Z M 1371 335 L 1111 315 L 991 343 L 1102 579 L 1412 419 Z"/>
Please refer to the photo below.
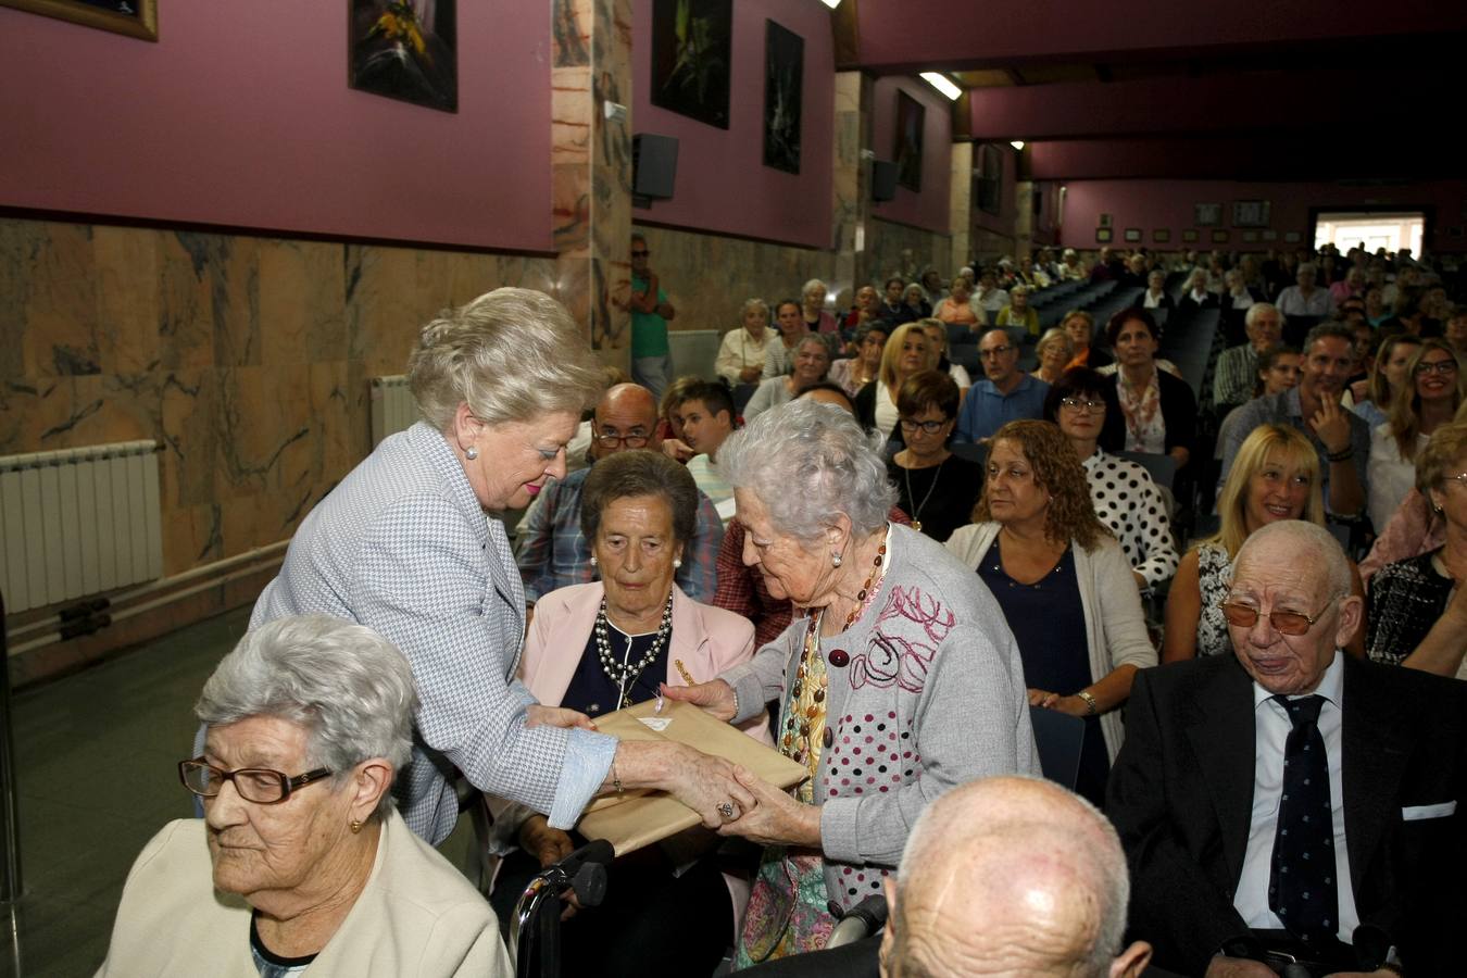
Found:
<path fill-rule="evenodd" d="M 559 482 L 550 482 L 540 499 L 519 521 L 515 534 L 515 563 L 525 582 L 525 600 L 531 604 L 557 588 L 596 581 L 591 547 L 581 534 L 581 490 L 591 469 L 571 472 Z M 675 575 L 678 587 L 694 601 L 704 604 L 717 585 L 717 553 L 723 543 L 723 521 L 719 510 L 698 490 L 698 525 L 684 548 L 682 566 Z"/>

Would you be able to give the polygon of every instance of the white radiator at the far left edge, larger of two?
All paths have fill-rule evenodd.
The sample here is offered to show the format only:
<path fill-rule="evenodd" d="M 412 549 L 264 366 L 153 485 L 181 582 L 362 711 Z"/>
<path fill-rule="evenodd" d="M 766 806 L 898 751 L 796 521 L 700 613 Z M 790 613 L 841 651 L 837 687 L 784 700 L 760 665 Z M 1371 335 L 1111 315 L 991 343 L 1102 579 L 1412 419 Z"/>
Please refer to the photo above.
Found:
<path fill-rule="evenodd" d="M 161 575 L 153 441 L 0 456 L 0 589 L 7 611 Z"/>

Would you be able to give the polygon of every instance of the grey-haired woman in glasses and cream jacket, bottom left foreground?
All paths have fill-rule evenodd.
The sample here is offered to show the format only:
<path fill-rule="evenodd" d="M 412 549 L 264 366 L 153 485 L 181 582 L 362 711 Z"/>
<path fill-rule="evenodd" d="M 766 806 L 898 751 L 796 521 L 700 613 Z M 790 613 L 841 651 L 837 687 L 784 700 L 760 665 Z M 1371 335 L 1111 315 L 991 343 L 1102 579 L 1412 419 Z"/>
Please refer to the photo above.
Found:
<path fill-rule="evenodd" d="M 489 905 L 393 805 L 417 705 L 406 657 L 362 625 L 245 635 L 178 765 L 204 817 L 138 856 L 97 974 L 512 975 Z"/>

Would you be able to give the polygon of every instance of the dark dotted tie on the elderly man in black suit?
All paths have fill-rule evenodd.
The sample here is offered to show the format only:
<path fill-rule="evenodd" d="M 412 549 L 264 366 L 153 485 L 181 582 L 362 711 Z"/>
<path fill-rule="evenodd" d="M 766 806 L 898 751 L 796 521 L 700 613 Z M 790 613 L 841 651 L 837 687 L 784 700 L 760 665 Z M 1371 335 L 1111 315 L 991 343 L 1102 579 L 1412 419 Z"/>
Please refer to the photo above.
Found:
<path fill-rule="evenodd" d="M 1335 820 L 1329 808 L 1329 758 L 1319 732 L 1323 696 L 1273 696 L 1288 711 L 1284 796 L 1273 836 L 1269 909 L 1294 937 L 1328 943 L 1338 931 Z"/>

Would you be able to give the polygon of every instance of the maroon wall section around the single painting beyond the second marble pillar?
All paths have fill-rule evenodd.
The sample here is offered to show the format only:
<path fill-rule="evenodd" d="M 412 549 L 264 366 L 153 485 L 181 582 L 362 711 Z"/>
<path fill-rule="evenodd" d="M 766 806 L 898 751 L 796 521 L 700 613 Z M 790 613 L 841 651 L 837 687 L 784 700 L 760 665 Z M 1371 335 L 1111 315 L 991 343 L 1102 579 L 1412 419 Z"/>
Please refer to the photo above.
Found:
<path fill-rule="evenodd" d="M 896 158 L 896 100 L 904 91 L 927 111 L 923 116 L 921 191 L 896 186 L 896 199 L 873 205 L 876 217 L 948 233 L 952 183 L 952 103 L 915 78 L 889 75 L 871 85 L 871 145 L 877 160 Z"/>

